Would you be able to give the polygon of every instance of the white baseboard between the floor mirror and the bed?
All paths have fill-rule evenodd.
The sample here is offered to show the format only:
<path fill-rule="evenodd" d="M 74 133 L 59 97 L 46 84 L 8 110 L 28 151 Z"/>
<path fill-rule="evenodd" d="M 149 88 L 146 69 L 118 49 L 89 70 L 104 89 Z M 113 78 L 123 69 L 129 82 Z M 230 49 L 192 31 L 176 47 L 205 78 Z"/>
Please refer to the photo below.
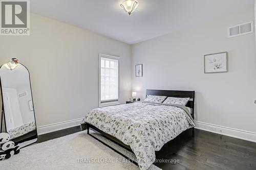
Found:
<path fill-rule="evenodd" d="M 43 135 L 46 133 L 51 133 L 51 132 L 59 131 L 62 129 L 68 129 L 68 128 L 72 128 L 75 126 L 80 126 L 82 120 L 83 120 L 83 118 L 77 118 L 77 119 L 69 120 L 66 122 L 59 122 L 56 124 L 40 126 L 40 127 L 37 127 L 37 134 Z"/>

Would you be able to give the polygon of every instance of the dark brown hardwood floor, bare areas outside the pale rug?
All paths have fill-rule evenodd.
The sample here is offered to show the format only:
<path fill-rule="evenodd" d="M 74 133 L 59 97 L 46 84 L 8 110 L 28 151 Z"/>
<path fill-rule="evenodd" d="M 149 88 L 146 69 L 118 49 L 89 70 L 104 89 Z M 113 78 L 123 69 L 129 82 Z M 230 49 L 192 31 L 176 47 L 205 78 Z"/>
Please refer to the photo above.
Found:
<path fill-rule="evenodd" d="M 38 136 L 38 142 L 80 131 L 69 128 Z M 256 169 L 256 143 L 195 129 L 183 132 L 156 152 L 156 158 L 179 163 L 154 163 L 162 169 Z"/>

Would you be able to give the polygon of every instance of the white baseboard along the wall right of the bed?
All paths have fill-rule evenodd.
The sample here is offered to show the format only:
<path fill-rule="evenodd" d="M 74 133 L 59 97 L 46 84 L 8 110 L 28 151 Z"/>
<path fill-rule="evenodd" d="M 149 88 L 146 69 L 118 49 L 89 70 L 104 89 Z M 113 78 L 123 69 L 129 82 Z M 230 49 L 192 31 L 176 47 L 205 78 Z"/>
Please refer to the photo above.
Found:
<path fill-rule="evenodd" d="M 195 121 L 196 129 L 256 142 L 256 133 Z"/>

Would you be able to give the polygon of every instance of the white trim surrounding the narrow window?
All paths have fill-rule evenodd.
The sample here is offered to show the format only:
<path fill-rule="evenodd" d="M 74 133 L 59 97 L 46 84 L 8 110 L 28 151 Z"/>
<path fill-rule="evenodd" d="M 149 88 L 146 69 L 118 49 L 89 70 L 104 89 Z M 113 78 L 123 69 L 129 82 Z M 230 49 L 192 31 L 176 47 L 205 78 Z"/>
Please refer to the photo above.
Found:
<path fill-rule="evenodd" d="M 101 103 L 101 96 L 100 96 L 100 68 L 101 68 L 101 57 L 104 58 L 110 58 L 110 59 L 115 59 L 118 60 L 118 100 L 117 101 L 104 101 L 103 103 Z M 111 56 L 111 55 L 106 55 L 106 54 L 99 54 L 99 107 L 105 107 L 105 106 L 113 106 L 113 105 L 120 105 L 119 103 L 119 99 L 120 99 L 120 62 L 119 62 L 120 57 L 117 56 Z"/>

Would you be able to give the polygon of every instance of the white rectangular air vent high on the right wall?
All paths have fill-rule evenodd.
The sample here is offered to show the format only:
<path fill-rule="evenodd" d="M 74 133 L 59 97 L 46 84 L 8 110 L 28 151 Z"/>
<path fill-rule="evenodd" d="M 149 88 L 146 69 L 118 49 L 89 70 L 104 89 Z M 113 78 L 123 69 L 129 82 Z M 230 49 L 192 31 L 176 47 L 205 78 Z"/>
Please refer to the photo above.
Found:
<path fill-rule="evenodd" d="M 236 37 L 250 33 L 253 33 L 253 21 L 228 28 L 228 37 Z"/>

